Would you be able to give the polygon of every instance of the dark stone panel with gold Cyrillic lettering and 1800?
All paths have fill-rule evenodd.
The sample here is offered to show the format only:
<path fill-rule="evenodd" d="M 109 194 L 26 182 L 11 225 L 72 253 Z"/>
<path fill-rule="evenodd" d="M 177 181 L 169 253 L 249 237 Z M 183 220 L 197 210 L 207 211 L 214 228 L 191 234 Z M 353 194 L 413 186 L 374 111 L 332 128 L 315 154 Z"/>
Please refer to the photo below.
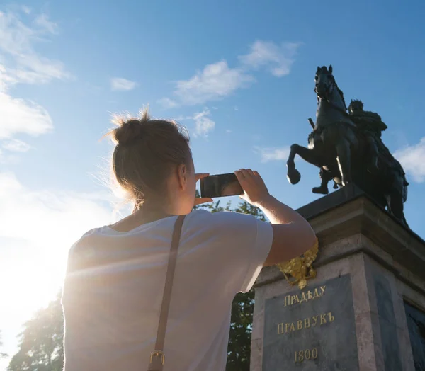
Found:
<path fill-rule="evenodd" d="M 264 303 L 263 371 L 359 371 L 349 275 Z"/>

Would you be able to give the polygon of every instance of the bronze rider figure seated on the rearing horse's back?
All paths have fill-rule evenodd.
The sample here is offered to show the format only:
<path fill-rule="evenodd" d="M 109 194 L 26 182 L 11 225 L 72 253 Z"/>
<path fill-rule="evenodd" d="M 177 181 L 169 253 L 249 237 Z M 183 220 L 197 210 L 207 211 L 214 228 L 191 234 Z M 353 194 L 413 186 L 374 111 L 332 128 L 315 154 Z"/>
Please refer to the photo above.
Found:
<path fill-rule="evenodd" d="M 365 134 L 369 147 L 368 171 L 376 173 L 378 171 L 378 146 L 381 132 L 387 129 L 387 125 L 382 122 L 378 113 L 363 110 L 362 101 L 351 100 L 350 105 L 348 105 L 348 113 L 351 120 Z"/>

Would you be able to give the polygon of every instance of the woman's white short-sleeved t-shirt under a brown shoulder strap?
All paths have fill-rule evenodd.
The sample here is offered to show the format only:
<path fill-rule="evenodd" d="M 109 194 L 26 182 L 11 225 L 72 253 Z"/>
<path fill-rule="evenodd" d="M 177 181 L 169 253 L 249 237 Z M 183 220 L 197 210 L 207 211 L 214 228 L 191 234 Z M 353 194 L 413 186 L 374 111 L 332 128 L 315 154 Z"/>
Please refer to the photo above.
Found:
<path fill-rule="evenodd" d="M 146 370 L 176 217 L 130 232 L 93 229 L 69 252 L 62 305 L 64 371 Z M 164 371 L 222 371 L 232 301 L 248 292 L 273 240 L 252 215 L 186 216 L 165 338 Z"/>

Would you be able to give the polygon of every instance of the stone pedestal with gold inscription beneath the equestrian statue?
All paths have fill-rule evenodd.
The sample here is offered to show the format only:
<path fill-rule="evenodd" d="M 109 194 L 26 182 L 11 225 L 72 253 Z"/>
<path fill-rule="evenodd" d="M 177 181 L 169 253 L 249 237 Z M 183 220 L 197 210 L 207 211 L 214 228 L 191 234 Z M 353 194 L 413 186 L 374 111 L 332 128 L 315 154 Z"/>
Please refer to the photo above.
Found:
<path fill-rule="evenodd" d="M 317 277 L 301 290 L 263 269 L 251 370 L 422 370 L 425 242 L 356 186 L 298 211 L 319 239 Z"/>

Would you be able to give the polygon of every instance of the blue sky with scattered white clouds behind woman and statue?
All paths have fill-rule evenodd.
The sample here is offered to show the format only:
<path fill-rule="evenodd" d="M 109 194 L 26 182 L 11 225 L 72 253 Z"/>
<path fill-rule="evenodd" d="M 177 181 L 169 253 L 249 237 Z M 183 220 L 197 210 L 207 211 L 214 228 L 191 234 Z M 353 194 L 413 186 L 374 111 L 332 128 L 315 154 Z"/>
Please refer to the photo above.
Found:
<path fill-rule="evenodd" d="M 55 295 L 70 244 L 113 221 L 102 179 L 111 113 L 188 127 L 199 172 L 258 170 L 300 207 L 318 170 L 306 144 L 317 66 L 332 64 L 346 100 L 382 116 L 407 171 L 406 215 L 425 237 L 425 7 L 422 1 L 38 1 L 0 6 L 0 309 L 6 351 Z M 4 207 L 6 205 L 6 207 Z M 29 284 L 32 283 L 32 285 Z M 4 367 L 7 362 L 0 364 Z"/>

